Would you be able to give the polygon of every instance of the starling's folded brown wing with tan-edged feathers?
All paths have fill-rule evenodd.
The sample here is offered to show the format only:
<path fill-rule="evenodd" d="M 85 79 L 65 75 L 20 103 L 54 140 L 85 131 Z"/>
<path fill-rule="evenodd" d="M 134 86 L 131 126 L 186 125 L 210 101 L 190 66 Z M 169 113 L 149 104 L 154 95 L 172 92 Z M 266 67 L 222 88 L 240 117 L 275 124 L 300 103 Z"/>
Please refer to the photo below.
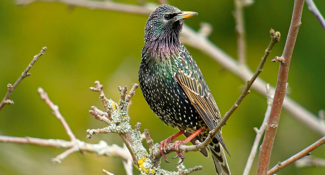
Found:
<path fill-rule="evenodd" d="M 188 69 L 186 72 L 182 69 L 178 69 L 178 72 L 175 73 L 175 79 L 184 90 L 186 96 L 189 98 L 191 104 L 195 107 L 204 123 L 210 130 L 212 130 L 221 120 L 220 112 L 215 100 L 210 90 L 205 85 L 206 83 L 204 79 L 192 77 L 191 74 L 193 72 Z M 219 131 L 215 136 L 228 153 L 221 136 L 221 131 Z"/>

